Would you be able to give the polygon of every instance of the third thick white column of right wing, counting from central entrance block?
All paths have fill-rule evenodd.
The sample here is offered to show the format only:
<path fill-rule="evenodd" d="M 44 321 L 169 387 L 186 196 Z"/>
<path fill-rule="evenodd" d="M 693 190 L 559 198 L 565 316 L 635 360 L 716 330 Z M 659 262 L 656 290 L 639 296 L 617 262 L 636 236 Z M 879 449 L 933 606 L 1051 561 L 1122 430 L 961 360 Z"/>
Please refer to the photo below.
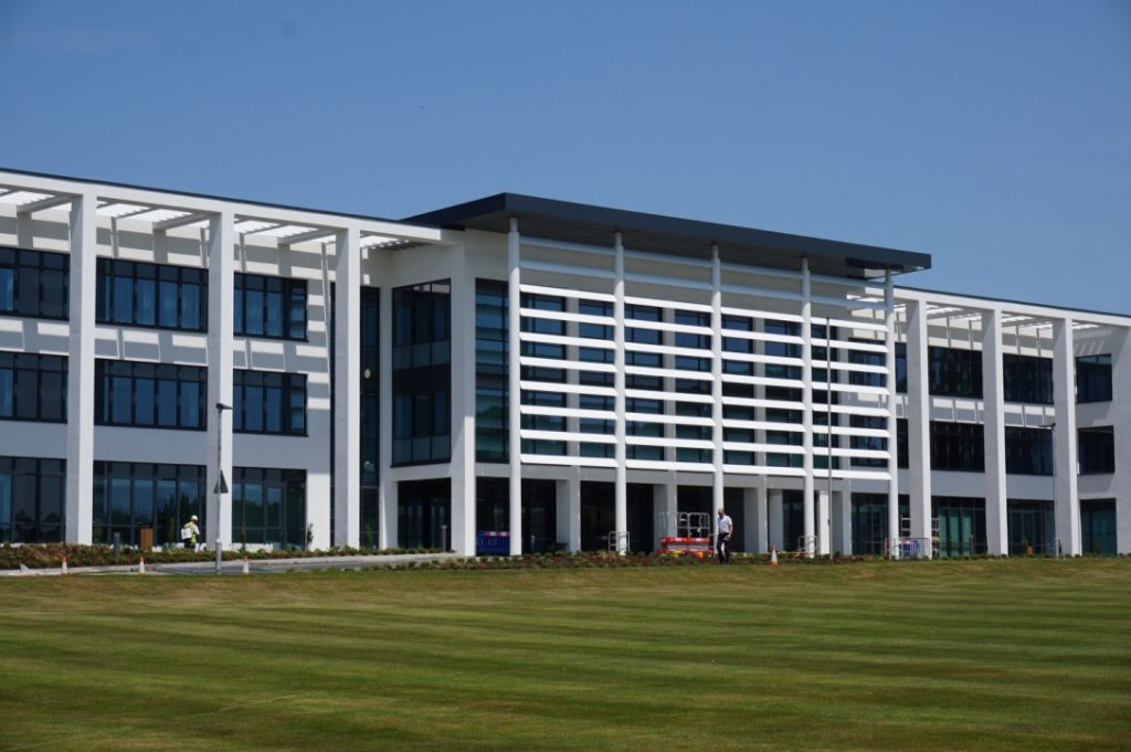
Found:
<path fill-rule="evenodd" d="M 1114 386 L 1114 384 L 1113 384 Z M 1076 486 L 1076 351 L 1072 319 L 1053 321 L 1053 500 L 1056 508 L 1056 538 L 1064 553 L 1081 552 L 1080 500 Z"/>

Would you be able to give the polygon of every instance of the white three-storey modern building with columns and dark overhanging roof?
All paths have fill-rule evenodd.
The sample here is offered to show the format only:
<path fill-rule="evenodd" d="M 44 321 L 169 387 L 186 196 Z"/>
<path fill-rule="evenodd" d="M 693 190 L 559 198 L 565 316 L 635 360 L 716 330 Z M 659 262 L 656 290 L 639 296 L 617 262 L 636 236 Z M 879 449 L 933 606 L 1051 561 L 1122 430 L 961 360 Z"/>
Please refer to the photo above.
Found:
<path fill-rule="evenodd" d="M 1131 317 L 930 265 L 0 171 L 0 542 L 650 551 L 725 504 L 746 551 L 1131 553 Z"/>

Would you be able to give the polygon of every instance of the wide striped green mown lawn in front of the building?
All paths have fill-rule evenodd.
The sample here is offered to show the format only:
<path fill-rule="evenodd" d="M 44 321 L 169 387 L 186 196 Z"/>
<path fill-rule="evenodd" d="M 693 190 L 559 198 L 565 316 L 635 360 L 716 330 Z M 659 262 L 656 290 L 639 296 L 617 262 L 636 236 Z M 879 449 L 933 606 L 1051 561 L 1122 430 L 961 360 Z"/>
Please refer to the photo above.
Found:
<path fill-rule="evenodd" d="M 0 750 L 1128 750 L 1131 560 L 0 580 Z"/>

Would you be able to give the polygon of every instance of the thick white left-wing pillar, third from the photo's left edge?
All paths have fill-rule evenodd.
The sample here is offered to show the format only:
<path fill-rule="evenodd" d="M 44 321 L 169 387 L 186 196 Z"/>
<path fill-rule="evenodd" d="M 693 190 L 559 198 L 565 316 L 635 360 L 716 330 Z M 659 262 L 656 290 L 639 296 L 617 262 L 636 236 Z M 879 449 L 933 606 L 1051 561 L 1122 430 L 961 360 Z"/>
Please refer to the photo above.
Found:
<path fill-rule="evenodd" d="M 357 227 L 338 231 L 334 242 L 334 543 L 356 547 L 361 541 L 361 233 Z M 314 537 L 316 541 L 328 537 L 320 534 L 317 524 Z"/>

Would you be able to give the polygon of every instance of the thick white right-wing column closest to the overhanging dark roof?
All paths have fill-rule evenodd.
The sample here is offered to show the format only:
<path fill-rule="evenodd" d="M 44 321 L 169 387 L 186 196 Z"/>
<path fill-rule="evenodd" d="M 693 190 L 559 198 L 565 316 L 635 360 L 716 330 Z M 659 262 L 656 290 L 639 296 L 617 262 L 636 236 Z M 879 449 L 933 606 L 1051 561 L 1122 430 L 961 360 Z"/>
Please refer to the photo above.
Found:
<path fill-rule="evenodd" d="M 907 455 L 912 536 L 931 536 L 931 395 L 926 305 L 907 303 Z M 889 530 L 888 537 L 896 537 Z"/>

